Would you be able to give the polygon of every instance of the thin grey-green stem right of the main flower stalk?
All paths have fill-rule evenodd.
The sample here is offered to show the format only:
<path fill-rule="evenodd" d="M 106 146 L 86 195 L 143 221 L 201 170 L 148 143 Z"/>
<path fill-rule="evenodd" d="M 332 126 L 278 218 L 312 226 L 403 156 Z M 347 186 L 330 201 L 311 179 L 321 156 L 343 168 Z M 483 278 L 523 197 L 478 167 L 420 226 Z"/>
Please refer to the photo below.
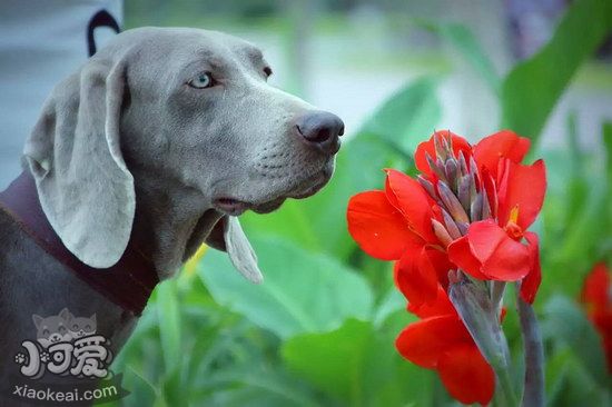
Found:
<path fill-rule="evenodd" d="M 516 292 L 519 294 L 519 289 Z M 544 406 L 544 349 L 537 319 L 531 305 L 516 296 L 516 308 L 521 320 L 521 332 L 525 348 L 525 388 L 523 407 Z"/>

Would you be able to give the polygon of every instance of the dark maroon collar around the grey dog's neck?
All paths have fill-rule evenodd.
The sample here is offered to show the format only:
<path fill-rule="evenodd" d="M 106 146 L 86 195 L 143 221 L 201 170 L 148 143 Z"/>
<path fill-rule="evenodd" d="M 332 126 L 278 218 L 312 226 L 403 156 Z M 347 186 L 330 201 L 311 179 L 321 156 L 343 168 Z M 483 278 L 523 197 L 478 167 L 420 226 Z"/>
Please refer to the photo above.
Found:
<path fill-rule="evenodd" d="M 32 176 L 22 172 L 3 192 L 0 208 L 49 255 L 63 264 L 77 277 L 89 284 L 112 302 L 140 315 L 159 282 L 152 264 L 128 244 L 124 256 L 109 268 L 97 269 L 80 261 L 61 242 L 42 211 Z"/>

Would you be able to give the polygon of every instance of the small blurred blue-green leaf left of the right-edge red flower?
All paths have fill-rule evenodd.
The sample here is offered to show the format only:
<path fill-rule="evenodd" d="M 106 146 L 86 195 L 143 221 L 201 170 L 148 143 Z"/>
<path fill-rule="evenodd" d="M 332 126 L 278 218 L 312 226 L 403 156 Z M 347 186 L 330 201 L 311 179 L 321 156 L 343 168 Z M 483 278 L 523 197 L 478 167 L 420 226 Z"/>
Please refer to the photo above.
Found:
<path fill-rule="evenodd" d="M 610 385 L 601 338 L 574 301 L 555 296 L 544 307 L 543 336 L 555 348 L 569 347 L 583 364 L 592 379 L 601 386 Z"/>

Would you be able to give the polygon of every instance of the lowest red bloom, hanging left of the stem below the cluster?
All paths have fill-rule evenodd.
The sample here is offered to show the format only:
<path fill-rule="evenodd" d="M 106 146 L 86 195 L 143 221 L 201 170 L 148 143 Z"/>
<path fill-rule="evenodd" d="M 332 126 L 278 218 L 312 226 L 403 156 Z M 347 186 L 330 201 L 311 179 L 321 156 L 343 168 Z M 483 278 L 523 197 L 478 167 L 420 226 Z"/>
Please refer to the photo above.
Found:
<path fill-rule="evenodd" d="M 430 305 L 408 309 L 423 318 L 411 324 L 395 345 L 415 365 L 435 369 L 451 396 L 464 404 L 486 405 L 495 390 L 495 374 L 442 287 Z"/>

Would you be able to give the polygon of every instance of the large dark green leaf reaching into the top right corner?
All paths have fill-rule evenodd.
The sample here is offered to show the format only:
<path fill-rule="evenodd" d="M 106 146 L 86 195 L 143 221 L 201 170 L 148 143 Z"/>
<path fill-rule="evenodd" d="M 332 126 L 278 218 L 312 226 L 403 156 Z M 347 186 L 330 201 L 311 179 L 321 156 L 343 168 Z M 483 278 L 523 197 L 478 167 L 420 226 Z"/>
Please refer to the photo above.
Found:
<path fill-rule="evenodd" d="M 570 6 L 551 41 L 506 77 L 502 126 L 537 140 L 578 68 L 611 29 L 611 1 L 579 0 Z"/>

